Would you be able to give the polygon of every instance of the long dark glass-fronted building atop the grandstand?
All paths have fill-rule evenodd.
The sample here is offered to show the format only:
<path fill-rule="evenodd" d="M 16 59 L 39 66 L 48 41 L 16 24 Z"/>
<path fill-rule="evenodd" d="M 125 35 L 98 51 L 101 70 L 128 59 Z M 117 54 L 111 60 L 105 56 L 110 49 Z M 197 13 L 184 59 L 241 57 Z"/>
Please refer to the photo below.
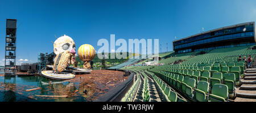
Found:
<path fill-rule="evenodd" d="M 255 23 L 241 23 L 173 41 L 175 53 L 255 45 Z"/>

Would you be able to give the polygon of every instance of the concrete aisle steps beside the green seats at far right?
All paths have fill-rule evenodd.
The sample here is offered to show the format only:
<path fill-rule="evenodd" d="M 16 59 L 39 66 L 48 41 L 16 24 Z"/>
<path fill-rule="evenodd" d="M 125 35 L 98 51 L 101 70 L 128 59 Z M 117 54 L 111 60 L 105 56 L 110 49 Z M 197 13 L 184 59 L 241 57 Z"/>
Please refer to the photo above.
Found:
<path fill-rule="evenodd" d="M 238 102 L 256 102 L 256 63 L 252 68 L 247 68 L 245 78 L 241 80 L 241 86 L 236 91 Z"/>

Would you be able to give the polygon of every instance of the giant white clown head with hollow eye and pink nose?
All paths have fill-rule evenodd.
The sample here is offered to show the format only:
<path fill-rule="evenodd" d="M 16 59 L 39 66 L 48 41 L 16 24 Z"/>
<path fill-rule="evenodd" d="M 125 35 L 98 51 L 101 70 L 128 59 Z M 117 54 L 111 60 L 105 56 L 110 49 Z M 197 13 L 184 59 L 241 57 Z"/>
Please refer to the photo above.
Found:
<path fill-rule="evenodd" d="M 75 60 L 76 44 L 71 37 L 66 36 L 64 34 L 64 36 L 57 38 L 57 40 L 53 44 L 53 47 L 54 47 L 53 51 L 56 55 L 68 50 L 69 53 L 73 54 L 73 61 Z M 71 64 L 73 64 L 73 63 L 71 63 Z"/>

